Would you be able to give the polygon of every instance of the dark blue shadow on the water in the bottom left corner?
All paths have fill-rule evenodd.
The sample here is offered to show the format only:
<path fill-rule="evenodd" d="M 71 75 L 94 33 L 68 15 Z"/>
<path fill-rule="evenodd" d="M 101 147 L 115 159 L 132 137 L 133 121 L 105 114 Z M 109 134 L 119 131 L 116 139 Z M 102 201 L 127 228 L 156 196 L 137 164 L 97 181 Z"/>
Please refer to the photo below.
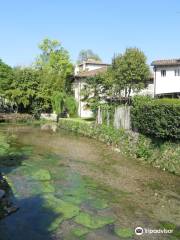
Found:
<path fill-rule="evenodd" d="M 1 240 L 54 240 L 48 231 L 51 223 L 59 217 L 43 208 L 41 196 L 17 200 L 19 211 L 0 221 Z"/>

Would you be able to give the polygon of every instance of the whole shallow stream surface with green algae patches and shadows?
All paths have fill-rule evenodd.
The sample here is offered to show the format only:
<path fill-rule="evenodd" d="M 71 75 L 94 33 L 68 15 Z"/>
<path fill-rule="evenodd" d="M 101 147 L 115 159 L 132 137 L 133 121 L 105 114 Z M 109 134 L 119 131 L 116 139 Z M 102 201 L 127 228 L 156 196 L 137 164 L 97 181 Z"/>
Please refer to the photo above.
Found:
<path fill-rule="evenodd" d="M 56 130 L 1 126 L 0 171 L 20 210 L 1 220 L 0 239 L 138 239 L 137 226 L 179 239 L 179 177 Z"/>

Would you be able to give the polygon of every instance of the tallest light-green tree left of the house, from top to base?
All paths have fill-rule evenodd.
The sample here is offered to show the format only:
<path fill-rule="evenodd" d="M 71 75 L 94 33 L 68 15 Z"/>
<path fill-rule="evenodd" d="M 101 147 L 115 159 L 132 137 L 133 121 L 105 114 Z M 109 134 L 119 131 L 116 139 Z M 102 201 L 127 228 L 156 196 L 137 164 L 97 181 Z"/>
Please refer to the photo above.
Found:
<path fill-rule="evenodd" d="M 53 98 L 57 100 L 61 93 L 71 92 L 73 65 L 59 41 L 44 39 L 39 48 L 42 53 L 35 62 L 40 75 L 38 96 L 43 100 L 42 110 L 49 112 L 53 108 Z"/>

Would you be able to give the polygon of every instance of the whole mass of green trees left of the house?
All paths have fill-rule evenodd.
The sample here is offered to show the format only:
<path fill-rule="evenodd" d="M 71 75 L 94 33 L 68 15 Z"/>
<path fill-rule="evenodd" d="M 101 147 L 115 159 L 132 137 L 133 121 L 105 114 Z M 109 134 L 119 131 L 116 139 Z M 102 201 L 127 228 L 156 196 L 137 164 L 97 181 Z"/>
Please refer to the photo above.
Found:
<path fill-rule="evenodd" d="M 39 45 L 41 54 L 33 67 L 11 69 L 0 60 L 0 97 L 9 100 L 19 113 L 36 118 L 52 108 L 62 112 L 66 108 L 75 114 L 76 104 L 67 97 L 71 92 L 73 65 L 69 53 L 57 40 L 44 39 Z"/>

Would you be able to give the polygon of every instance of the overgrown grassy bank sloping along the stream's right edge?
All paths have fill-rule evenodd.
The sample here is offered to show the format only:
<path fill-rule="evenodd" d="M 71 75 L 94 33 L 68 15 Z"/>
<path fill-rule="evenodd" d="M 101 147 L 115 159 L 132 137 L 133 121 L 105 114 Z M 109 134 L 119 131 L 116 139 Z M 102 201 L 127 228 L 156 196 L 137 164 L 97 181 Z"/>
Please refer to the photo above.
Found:
<path fill-rule="evenodd" d="M 148 138 L 142 134 L 100 126 L 80 119 L 60 119 L 59 127 L 112 145 L 126 156 L 180 175 L 180 141 Z"/>

